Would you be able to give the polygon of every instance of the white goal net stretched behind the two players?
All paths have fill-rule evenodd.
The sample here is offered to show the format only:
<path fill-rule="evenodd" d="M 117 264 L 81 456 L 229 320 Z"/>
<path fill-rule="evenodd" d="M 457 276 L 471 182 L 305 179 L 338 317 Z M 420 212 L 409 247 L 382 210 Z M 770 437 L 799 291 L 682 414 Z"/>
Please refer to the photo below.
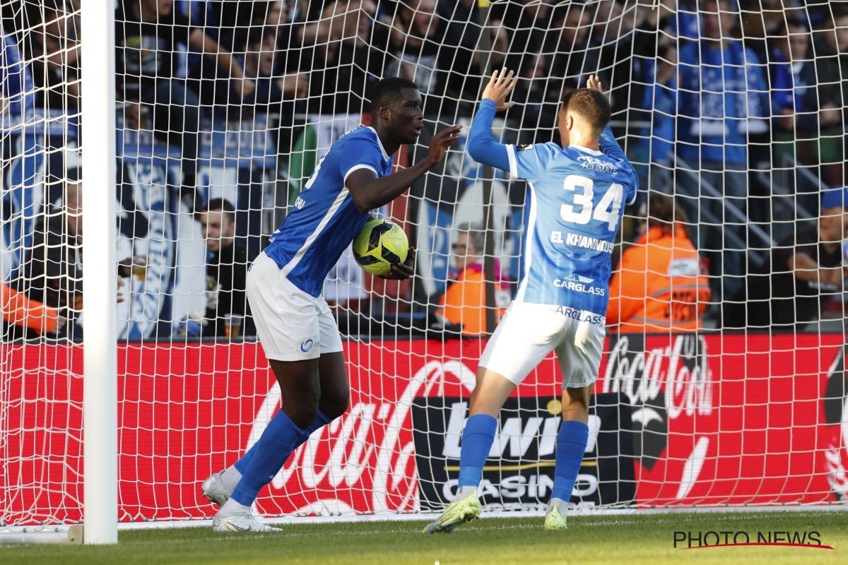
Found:
<path fill-rule="evenodd" d="M 349 250 L 327 278 L 349 410 L 293 453 L 257 509 L 406 514 L 452 499 L 477 363 L 526 259 L 526 183 L 465 151 L 483 80 L 503 66 L 519 79 L 494 122 L 501 141 L 558 142 L 561 98 L 596 74 L 639 173 L 605 250 L 607 338 L 572 503 L 843 503 L 842 4 L 116 0 L 117 154 L 103 160 L 117 165 L 117 518 L 213 516 L 199 483 L 279 409 L 248 265 L 332 141 L 371 123 L 388 76 L 415 80 L 424 101 L 420 141 L 396 168 L 448 125 L 464 126 L 460 141 L 373 212 L 404 228 L 415 276 L 373 278 Z M 0 10 L 0 526 L 74 523 L 82 341 L 98 324 L 84 304 L 106 299 L 81 284 L 82 127 L 98 112 L 80 72 L 86 7 Z M 560 398 L 552 354 L 500 413 L 484 508 L 544 507 Z"/>

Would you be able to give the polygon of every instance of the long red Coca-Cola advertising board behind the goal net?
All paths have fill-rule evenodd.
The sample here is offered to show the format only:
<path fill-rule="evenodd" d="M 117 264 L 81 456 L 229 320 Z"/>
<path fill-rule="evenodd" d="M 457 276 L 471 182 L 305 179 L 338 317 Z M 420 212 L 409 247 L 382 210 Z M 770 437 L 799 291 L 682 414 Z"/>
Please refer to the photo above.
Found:
<path fill-rule="evenodd" d="M 417 512 L 444 503 L 484 345 L 349 341 L 348 412 L 293 453 L 259 496 L 259 512 Z M 623 458 L 633 465 L 639 507 L 843 499 L 842 345 L 841 335 L 815 334 L 611 337 L 595 391 L 616 397 L 617 423 L 605 424 L 601 407 L 611 403 L 599 402 L 599 433 L 586 454 L 599 467 L 581 470 L 595 474 L 598 497 L 584 477 L 583 494 L 572 501 L 627 504 L 627 491 L 610 498 L 603 490 L 633 484 Z M 2 353 L 0 520 L 79 520 L 81 346 L 4 346 Z M 120 346 L 118 391 L 125 522 L 213 515 L 199 481 L 240 457 L 280 407 L 276 379 L 252 343 Z M 499 467 L 486 477 L 493 507 L 546 501 L 542 476 L 550 476 L 553 456 L 544 442 L 554 434 L 560 396 L 553 357 L 516 388 L 500 418 L 499 457 L 487 463 Z M 619 441 L 611 451 L 601 443 L 607 429 Z M 602 459 L 619 460 L 617 475 L 606 474 Z M 505 487 L 518 496 L 505 496 Z"/>

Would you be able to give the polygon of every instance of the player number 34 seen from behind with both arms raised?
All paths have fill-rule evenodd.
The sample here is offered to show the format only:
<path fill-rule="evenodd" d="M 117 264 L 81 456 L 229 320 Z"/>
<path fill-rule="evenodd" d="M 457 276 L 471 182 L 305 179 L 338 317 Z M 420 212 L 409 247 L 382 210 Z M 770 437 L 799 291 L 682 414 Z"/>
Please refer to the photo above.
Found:
<path fill-rule="evenodd" d="M 604 346 L 612 244 L 622 204 L 638 180 L 607 126 L 610 103 L 600 81 L 572 91 L 559 110 L 562 146 L 502 145 L 492 120 L 516 80 L 495 72 L 471 123 L 468 152 L 480 163 L 527 180 L 522 274 L 515 300 L 486 345 L 462 432 L 456 496 L 425 533 L 450 532 L 480 515 L 477 486 L 510 392 L 556 352 L 562 372 L 562 424 L 545 529 L 566 529 L 566 509 L 589 439 L 589 394 Z"/>

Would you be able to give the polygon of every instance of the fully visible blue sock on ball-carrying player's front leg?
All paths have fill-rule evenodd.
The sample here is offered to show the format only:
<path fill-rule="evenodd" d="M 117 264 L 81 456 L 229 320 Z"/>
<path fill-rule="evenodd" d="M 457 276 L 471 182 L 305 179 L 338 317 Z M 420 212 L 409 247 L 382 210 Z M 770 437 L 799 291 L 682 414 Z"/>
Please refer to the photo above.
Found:
<path fill-rule="evenodd" d="M 242 473 L 232 499 L 249 507 L 259 495 L 259 490 L 271 482 L 292 454 L 304 430 L 294 425 L 282 410 L 276 413 L 256 442 L 253 458 Z"/>

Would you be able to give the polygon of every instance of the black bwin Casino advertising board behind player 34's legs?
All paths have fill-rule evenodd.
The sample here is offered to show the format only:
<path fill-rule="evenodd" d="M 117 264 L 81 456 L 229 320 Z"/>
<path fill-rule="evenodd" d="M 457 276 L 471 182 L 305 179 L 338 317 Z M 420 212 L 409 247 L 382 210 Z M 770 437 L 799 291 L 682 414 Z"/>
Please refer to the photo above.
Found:
<path fill-rule="evenodd" d="M 526 392 L 526 391 L 525 391 Z M 561 402 L 555 396 L 507 399 L 499 414 L 478 494 L 490 508 L 541 507 L 554 485 Z M 584 507 L 632 502 L 636 496 L 630 409 L 617 394 L 593 395 L 589 442 L 572 502 Z M 412 406 L 421 508 L 454 499 L 468 399 L 416 398 Z"/>

